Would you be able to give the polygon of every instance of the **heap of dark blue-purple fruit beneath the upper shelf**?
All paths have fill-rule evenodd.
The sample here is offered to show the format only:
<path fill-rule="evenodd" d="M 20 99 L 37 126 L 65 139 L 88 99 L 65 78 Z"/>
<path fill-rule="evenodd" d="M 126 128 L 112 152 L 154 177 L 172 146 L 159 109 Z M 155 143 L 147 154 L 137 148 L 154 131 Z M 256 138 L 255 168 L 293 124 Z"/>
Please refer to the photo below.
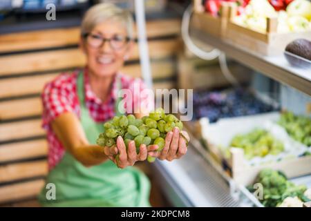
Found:
<path fill-rule="evenodd" d="M 222 91 L 197 91 L 194 93 L 194 119 L 208 117 L 209 122 L 220 118 L 254 115 L 274 111 L 245 88 Z"/>

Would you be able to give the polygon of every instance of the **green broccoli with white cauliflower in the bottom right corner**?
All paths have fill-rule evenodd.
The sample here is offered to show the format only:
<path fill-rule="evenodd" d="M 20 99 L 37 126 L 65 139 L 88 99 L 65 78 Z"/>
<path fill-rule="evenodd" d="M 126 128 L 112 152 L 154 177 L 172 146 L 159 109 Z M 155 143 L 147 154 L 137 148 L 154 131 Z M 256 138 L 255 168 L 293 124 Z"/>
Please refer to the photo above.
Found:
<path fill-rule="evenodd" d="M 311 189 L 304 184 L 296 185 L 290 182 L 281 171 L 263 169 L 254 182 L 254 184 L 258 183 L 263 185 L 263 198 L 258 200 L 267 207 L 302 207 L 303 202 L 311 200 Z M 247 189 L 251 192 L 256 191 L 253 185 L 248 186 Z"/>

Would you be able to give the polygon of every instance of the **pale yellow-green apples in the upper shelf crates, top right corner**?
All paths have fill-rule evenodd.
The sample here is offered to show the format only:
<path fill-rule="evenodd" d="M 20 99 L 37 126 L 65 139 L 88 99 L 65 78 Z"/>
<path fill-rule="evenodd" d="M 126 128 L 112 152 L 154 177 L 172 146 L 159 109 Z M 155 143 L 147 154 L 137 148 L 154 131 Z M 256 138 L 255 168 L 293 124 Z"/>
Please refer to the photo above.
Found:
<path fill-rule="evenodd" d="M 267 18 L 277 18 L 276 32 L 311 31 L 311 2 L 308 0 L 251 0 L 233 22 L 240 26 L 265 33 Z"/>

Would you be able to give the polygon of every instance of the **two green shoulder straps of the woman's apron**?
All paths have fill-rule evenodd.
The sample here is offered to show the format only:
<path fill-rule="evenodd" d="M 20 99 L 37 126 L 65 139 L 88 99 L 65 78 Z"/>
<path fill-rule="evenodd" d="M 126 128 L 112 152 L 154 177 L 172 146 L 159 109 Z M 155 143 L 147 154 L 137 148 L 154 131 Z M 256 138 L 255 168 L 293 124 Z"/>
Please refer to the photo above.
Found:
<path fill-rule="evenodd" d="M 117 93 L 119 90 L 122 89 L 122 84 L 121 84 L 121 79 L 120 75 L 116 75 L 116 84 L 117 84 Z M 88 110 L 86 108 L 85 104 L 85 93 L 84 93 L 84 72 L 81 71 L 78 76 L 77 76 L 77 95 L 79 97 L 79 104 L 80 104 L 80 109 L 81 109 L 81 116 L 88 114 Z M 116 116 L 121 116 L 124 115 L 124 105 L 122 104 L 122 97 L 117 97 L 116 102 L 115 102 L 115 115 Z M 122 105 L 120 105 L 122 104 Z M 119 108 L 120 107 L 120 108 Z"/>

